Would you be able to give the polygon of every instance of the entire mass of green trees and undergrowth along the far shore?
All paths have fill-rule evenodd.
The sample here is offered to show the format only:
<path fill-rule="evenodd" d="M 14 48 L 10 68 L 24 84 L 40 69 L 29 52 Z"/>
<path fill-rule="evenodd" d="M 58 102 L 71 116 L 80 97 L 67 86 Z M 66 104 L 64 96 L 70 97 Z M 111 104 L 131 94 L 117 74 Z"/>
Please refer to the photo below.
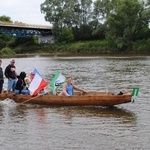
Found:
<path fill-rule="evenodd" d="M 45 0 L 41 12 L 53 25 L 55 43 L 0 35 L 1 52 L 150 53 L 150 0 Z"/>

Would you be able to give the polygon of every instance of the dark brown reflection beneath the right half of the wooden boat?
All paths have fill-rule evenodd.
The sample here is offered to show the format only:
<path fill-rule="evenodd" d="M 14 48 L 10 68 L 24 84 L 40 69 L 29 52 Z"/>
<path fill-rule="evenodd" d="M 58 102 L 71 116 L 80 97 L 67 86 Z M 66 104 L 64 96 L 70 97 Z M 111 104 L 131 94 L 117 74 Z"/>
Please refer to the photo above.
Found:
<path fill-rule="evenodd" d="M 61 113 L 66 118 L 73 118 L 73 117 L 94 117 L 94 118 L 124 118 L 124 119 L 133 119 L 134 114 L 124 110 L 119 109 L 117 107 L 113 108 L 103 108 L 103 107 L 56 107 L 55 111 Z"/>

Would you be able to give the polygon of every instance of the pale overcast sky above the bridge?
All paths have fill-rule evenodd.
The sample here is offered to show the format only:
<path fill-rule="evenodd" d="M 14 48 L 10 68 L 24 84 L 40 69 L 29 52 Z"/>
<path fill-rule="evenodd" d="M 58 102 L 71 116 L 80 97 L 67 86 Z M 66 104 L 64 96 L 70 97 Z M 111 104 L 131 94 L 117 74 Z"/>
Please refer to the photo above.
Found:
<path fill-rule="evenodd" d="M 40 11 L 45 0 L 0 0 L 0 16 L 8 16 L 13 22 L 50 25 Z"/>

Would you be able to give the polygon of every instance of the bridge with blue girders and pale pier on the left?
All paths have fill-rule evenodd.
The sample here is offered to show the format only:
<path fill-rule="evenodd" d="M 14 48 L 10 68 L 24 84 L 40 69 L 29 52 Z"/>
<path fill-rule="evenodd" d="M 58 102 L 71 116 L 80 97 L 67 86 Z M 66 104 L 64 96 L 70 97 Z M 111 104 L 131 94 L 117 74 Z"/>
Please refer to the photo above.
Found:
<path fill-rule="evenodd" d="M 52 26 L 42 26 L 42 25 L 0 21 L 0 34 L 9 34 L 16 37 L 37 35 L 39 36 L 39 43 L 53 42 Z"/>

